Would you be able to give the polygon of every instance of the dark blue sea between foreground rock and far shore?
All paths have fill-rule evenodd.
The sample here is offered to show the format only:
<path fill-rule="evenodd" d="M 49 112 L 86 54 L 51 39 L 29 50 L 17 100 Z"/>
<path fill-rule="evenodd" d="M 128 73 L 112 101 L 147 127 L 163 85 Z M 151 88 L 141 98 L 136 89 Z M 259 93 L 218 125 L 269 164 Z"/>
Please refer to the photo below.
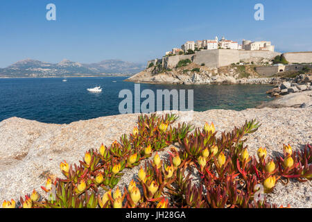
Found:
<path fill-rule="evenodd" d="M 67 82 L 62 82 L 62 78 L 0 79 L 0 121 L 21 117 L 44 123 L 71 123 L 120 114 L 121 89 L 130 89 L 135 95 L 135 83 L 123 80 L 125 77 L 67 78 Z M 98 85 L 103 88 L 101 93 L 87 91 Z M 155 102 L 157 89 L 193 89 L 195 111 L 255 108 L 272 100 L 266 95 L 271 88 L 271 85 L 140 84 L 141 92 L 144 89 L 155 92 Z"/>

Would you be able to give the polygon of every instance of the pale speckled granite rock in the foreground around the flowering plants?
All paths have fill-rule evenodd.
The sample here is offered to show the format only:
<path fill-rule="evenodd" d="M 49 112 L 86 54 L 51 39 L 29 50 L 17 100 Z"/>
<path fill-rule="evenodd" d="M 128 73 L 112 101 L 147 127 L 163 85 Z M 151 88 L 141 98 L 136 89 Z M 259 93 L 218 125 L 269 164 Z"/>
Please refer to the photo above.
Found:
<path fill-rule="evenodd" d="M 216 130 L 229 131 L 245 120 L 257 119 L 262 124 L 256 133 L 247 136 L 248 151 L 255 155 L 259 146 L 268 148 L 268 155 L 282 153 L 283 144 L 293 149 L 312 142 L 312 108 L 208 110 L 193 112 L 191 123 L 202 127 L 213 121 Z M 187 115 L 181 112 L 180 117 Z M 48 176 L 62 177 L 60 162 L 81 160 L 89 148 L 111 144 L 123 133 L 130 133 L 138 114 L 100 117 L 70 124 L 48 124 L 13 117 L 0 122 L 0 202 L 19 198 L 33 189 L 44 195 L 40 186 Z M 181 120 L 180 120 L 181 121 Z M 177 121 L 180 122 L 180 121 Z M 217 134 L 220 136 L 220 132 Z M 166 151 L 161 153 L 164 157 Z M 143 164 L 143 163 L 142 163 Z M 119 185 L 128 185 L 138 168 L 126 169 Z M 270 203 L 291 204 L 291 207 L 312 207 L 312 183 L 291 180 L 284 186 L 277 183 Z"/>

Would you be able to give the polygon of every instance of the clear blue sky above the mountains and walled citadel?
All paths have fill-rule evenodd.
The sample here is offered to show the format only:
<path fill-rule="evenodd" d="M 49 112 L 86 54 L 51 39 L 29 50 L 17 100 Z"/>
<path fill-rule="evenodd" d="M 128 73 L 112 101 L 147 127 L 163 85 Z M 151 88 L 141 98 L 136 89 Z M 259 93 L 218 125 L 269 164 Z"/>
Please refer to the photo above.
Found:
<path fill-rule="evenodd" d="M 55 3 L 56 21 L 46 20 Z M 264 21 L 254 20 L 263 3 Z M 312 1 L 0 1 L 0 67 L 32 58 L 146 62 L 187 40 L 270 40 L 277 51 L 312 51 Z"/>

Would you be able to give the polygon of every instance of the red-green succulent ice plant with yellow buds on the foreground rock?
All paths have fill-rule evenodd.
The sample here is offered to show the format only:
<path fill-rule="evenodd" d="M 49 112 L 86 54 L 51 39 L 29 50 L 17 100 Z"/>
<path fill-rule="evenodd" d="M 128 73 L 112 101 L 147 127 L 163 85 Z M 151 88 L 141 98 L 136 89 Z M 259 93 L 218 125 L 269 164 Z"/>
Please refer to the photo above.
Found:
<path fill-rule="evenodd" d="M 256 198 L 259 185 L 269 193 L 277 182 L 285 183 L 288 178 L 297 178 L 300 182 L 312 179 L 309 144 L 303 151 L 293 151 L 291 145 L 284 145 L 284 154 L 277 159 L 267 157 L 266 148 L 260 147 L 256 158 L 250 156 L 243 139 L 259 128 L 254 120 L 216 137 L 214 123 L 205 123 L 203 128 L 194 130 L 186 123 L 173 127 L 176 119 L 174 114 L 139 116 L 132 133 L 122 135 L 119 142 L 109 147 L 101 144 L 98 150 L 90 149 L 78 165 L 60 163 L 64 178 L 48 178 L 46 187 L 42 187 L 47 193 L 55 187 L 54 198 L 44 199 L 33 190 L 25 199 L 20 198 L 17 206 L 276 207 L 268 204 L 265 196 Z M 180 149 L 171 148 L 168 160 L 162 160 L 160 151 L 175 143 L 180 144 Z M 131 169 L 144 160 L 137 180 L 126 187 L 116 187 L 123 169 Z M 193 178 L 199 182 L 194 183 Z M 4 200 L 2 207 L 15 208 L 15 200 Z"/>

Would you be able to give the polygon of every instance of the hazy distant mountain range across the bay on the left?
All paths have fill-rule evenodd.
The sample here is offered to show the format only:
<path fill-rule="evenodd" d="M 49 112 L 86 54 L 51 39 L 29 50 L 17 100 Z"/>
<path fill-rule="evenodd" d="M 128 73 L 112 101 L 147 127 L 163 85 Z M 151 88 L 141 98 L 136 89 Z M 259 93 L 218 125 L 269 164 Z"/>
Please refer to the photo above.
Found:
<path fill-rule="evenodd" d="M 64 59 L 53 64 L 26 59 L 0 68 L 0 77 L 131 76 L 144 70 L 145 67 L 143 64 L 122 60 L 103 60 L 84 64 Z"/>

